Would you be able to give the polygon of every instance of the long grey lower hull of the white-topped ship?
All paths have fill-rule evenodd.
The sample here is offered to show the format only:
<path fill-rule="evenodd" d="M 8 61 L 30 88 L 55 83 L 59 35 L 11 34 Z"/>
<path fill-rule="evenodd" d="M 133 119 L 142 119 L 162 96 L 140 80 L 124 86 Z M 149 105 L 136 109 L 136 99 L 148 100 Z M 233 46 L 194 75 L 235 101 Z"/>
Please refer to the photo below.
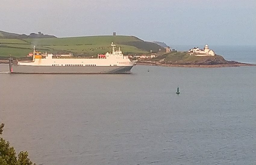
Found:
<path fill-rule="evenodd" d="M 12 65 L 12 73 L 131 73 L 133 66 L 31 66 Z"/>

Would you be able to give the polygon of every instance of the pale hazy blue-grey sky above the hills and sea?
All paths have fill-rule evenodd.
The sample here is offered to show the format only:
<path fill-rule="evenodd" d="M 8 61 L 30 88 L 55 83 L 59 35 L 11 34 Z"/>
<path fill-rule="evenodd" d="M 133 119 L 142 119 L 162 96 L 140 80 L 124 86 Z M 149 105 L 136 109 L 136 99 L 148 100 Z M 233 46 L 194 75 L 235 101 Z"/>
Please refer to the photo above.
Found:
<path fill-rule="evenodd" d="M 0 0 L 0 30 L 256 45 L 256 0 Z"/>

